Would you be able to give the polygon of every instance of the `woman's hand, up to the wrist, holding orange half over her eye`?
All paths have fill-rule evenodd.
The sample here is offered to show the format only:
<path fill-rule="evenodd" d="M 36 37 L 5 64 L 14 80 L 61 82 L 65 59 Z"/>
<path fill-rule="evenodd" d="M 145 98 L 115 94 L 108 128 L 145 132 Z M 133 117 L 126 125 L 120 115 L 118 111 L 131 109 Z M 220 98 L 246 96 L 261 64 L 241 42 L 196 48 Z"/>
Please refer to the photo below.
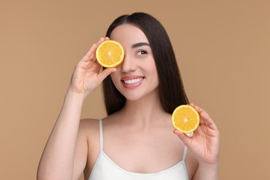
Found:
<path fill-rule="evenodd" d="M 86 98 L 110 73 L 116 71 L 116 68 L 100 71 L 101 66 L 96 61 L 98 45 L 107 40 L 109 40 L 109 37 L 100 38 L 76 64 L 69 84 L 69 91 L 81 93 Z"/>

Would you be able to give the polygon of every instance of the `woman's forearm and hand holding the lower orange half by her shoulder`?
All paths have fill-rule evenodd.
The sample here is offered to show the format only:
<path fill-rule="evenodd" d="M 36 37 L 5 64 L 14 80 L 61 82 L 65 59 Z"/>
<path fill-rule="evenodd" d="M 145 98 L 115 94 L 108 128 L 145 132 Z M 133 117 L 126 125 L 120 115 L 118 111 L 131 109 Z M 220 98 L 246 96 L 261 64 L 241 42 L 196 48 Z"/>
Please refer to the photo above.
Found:
<path fill-rule="evenodd" d="M 174 130 L 174 133 L 181 138 L 188 150 L 194 154 L 199 162 L 193 180 L 219 179 L 219 130 L 210 116 L 193 104 L 192 107 L 198 111 L 200 125 L 192 137 Z"/>

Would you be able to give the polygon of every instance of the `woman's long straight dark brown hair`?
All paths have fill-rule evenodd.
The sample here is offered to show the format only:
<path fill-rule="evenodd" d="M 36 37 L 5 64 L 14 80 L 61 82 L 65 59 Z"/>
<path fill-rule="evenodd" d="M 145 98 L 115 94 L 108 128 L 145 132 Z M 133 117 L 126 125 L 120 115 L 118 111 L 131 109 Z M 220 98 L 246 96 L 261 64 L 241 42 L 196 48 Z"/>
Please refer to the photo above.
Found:
<path fill-rule="evenodd" d="M 110 37 L 114 28 L 122 24 L 140 28 L 150 43 L 159 76 L 159 98 L 165 111 L 172 114 L 177 106 L 188 104 L 172 44 L 162 24 L 151 15 L 135 12 L 118 17 L 109 26 L 106 36 Z M 116 89 L 110 75 L 103 81 L 102 87 L 107 114 L 122 109 L 126 98 Z"/>

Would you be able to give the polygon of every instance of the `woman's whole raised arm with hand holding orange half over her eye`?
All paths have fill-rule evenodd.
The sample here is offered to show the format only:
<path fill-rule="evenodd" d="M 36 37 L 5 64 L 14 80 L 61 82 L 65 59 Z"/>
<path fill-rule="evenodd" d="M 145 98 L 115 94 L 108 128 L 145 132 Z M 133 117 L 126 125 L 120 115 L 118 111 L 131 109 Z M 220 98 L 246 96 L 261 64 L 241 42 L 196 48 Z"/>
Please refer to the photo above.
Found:
<path fill-rule="evenodd" d="M 93 44 L 73 71 L 64 104 L 44 148 L 37 170 L 37 179 L 74 179 L 84 170 L 87 161 L 87 139 L 79 133 L 84 99 L 116 69 L 100 72 L 95 52 L 101 38 Z M 80 151 L 78 151 L 80 150 Z"/>

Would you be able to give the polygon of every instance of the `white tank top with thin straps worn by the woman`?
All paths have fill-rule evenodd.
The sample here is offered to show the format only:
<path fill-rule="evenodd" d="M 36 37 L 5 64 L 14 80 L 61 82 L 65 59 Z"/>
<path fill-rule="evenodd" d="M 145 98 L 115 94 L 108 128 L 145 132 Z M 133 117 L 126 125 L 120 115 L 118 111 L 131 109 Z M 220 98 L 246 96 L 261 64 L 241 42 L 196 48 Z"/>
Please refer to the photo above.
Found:
<path fill-rule="evenodd" d="M 114 163 L 105 152 L 103 152 L 103 133 L 102 120 L 100 120 L 100 154 L 93 170 L 90 174 L 89 180 L 188 180 L 188 171 L 186 169 L 186 152 L 185 147 L 183 152 L 183 159 L 173 165 L 172 167 L 161 170 L 155 173 L 136 173 L 124 170 L 119 165 Z"/>

